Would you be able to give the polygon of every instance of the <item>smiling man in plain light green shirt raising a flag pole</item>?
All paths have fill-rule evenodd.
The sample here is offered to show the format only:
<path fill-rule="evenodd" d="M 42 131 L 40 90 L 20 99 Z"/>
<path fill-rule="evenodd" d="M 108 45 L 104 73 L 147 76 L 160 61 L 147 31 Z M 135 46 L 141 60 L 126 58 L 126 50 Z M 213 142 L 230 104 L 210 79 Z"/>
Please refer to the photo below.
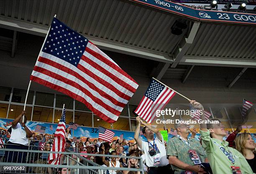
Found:
<path fill-rule="evenodd" d="M 203 110 L 202 104 L 190 101 L 192 106 L 198 110 Z M 200 134 L 202 146 L 206 151 L 213 174 L 233 174 L 232 169 L 241 170 L 242 174 L 253 174 L 251 167 L 245 157 L 232 147 L 228 147 L 228 142 L 223 140 L 226 135 L 223 124 L 218 119 L 218 123 L 203 123 L 205 120 L 204 112 L 201 115 Z M 232 167 L 235 166 L 235 167 Z"/>

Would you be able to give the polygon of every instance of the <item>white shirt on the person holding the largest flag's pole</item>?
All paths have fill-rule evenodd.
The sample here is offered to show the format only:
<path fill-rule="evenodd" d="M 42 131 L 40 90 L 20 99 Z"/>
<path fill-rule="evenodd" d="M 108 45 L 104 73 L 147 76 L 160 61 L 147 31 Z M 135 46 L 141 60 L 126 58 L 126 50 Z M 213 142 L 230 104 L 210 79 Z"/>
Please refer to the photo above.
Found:
<path fill-rule="evenodd" d="M 23 130 L 23 127 L 20 125 L 20 123 L 18 123 L 15 128 L 12 127 L 12 133 L 9 141 L 12 143 L 28 145 L 28 137 L 26 131 Z"/>

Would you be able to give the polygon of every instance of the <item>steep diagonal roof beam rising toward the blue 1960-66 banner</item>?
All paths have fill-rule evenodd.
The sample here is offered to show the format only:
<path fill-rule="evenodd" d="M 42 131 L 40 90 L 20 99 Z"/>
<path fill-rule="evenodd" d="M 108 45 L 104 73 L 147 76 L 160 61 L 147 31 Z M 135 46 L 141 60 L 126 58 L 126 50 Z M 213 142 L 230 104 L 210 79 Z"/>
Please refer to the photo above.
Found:
<path fill-rule="evenodd" d="M 199 29 L 199 26 L 200 26 L 200 22 L 195 21 L 189 33 L 188 38 L 185 38 L 183 42 L 184 45 L 182 46 L 182 48 L 179 48 L 178 50 L 179 52 L 177 53 L 177 56 L 175 56 L 174 58 L 174 63 L 172 63 L 172 66 L 171 66 L 172 68 L 175 68 L 179 64 L 179 62 L 182 60 L 185 53 L 187 53 L 187 50 L 189 49 L 189 47 L 191 46 L 191 44 L 195 39 L 195 35 L 197 34 L 197 30 Z"/>

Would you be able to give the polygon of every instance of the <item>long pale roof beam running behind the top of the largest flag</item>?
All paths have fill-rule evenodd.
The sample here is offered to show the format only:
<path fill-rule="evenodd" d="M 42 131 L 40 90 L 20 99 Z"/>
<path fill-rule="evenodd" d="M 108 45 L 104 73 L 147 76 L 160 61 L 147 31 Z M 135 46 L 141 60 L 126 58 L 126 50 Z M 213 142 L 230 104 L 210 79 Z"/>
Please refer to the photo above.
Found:
<path fill-rule="evenodd" d="M 48 26 L 29 23 L 9 17 L 0 17 L 0 27 L 23 33 L 29 33 L 32 35 L 39 35 L 43 37 L 46 36 L 46 33 L 49 29 Z M 95 38 L 87 35 L 84 36 L 91 40 L 95 45 L 97 45 L 101 49 L 110 50 L 127 55 L 133 55 L 164 63 L 173 63 L 173 58 L 170 57 L 167 53 L 160 53 L 159 51 L 155 50 L 148 50 L 145 48 L 139 48 L 136 46 L 127 45 L 123 43 L 116 43 L 114 41 Z"/>

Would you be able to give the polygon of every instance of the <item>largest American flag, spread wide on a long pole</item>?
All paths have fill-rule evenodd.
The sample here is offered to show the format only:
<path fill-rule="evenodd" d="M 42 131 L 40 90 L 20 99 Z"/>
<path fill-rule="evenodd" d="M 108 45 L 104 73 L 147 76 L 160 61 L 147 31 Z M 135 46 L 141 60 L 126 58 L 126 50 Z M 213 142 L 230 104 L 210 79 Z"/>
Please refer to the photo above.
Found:
<path fill-rule="evenodd" d="M 108 123 L 138 88 L 108 55 L 56 18 L 30 79 L 84 103 Z"/>

